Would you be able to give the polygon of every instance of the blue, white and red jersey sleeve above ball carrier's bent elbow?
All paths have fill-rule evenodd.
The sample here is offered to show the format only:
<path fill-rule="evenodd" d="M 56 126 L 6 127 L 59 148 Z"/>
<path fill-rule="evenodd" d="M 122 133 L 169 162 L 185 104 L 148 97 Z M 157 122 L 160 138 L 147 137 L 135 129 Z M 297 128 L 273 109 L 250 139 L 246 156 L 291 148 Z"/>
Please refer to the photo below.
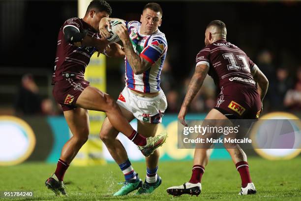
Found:
<path fill-rule="evenodd" d="M 167 41 L 160 36 L 149 39 L 147 46 L 142 50 L 140 57 L 154 64 L 167 51 Z"/>

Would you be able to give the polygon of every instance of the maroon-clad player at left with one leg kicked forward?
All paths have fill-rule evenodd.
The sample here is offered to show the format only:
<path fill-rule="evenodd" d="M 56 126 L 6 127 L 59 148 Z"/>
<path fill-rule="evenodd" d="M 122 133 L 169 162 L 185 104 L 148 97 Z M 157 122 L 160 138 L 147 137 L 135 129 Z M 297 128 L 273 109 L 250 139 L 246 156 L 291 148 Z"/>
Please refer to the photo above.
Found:
<path fill-rule="evenodd" d="M 89 85 L 84 79 L 85 68 L 94 52 L 108 56 L 124 56 L 121 46 L 100 38 L 99 22 L 109 17 L 112 9 L 105 0 L 90 2 L 83 19 L 68 19 L 58 36 L 53 96 L 61 105 L 72 137 L 62 148 L 55 173 L 46 180 L 46 186 L 57 195 L 66 195 L 63 177 L 80 148 L 88 140 L 89 110 L 104 111 L 113 127 L 126 135 L 145 156 L 162 145 L 166 134 L 144 137 L 138 134 L 122 116 L 119 106 L 108 94 Z"/>

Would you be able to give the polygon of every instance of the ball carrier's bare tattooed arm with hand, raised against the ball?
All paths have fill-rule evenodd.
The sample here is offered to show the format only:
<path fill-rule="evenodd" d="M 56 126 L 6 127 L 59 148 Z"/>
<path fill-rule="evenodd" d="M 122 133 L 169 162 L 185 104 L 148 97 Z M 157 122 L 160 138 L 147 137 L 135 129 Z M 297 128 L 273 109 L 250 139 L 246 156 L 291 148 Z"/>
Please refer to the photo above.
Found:
<path fill-rule="evenodd" d="M 151 67 L 151 63 L 136 54 L 130 41 L 126 27 L 124 25 L 118 25 L 116 33 L 123 43 L 126 58 L 134 73 L 136 75 L 139 75 L 148 70 Z"/>

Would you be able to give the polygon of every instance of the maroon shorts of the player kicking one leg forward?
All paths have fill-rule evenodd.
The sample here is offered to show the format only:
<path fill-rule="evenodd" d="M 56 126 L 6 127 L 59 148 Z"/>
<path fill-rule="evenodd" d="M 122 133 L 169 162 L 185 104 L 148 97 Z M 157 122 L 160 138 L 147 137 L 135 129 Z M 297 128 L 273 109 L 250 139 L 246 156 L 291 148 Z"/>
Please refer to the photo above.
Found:
<path fill-rule="evenodd" d="M 89 82 L 78 78 L 65 78 L 56 81 L 52 94 L 55 100 L 60 104 L 63 111 L 75 109 L 75 103 Z"/>

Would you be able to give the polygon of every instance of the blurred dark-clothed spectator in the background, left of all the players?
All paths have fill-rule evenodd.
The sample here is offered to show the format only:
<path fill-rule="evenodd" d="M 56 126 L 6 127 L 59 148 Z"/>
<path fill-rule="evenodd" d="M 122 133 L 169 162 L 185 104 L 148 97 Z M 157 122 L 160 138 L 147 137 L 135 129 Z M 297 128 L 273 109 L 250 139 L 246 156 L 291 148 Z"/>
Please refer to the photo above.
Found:
<path fill-rule="evenodd" d="M 18 115 L 34 115 L 41 113 L 39 89 L 31 74 L 25 74 L 15 100 L 15 110 Z"/>

